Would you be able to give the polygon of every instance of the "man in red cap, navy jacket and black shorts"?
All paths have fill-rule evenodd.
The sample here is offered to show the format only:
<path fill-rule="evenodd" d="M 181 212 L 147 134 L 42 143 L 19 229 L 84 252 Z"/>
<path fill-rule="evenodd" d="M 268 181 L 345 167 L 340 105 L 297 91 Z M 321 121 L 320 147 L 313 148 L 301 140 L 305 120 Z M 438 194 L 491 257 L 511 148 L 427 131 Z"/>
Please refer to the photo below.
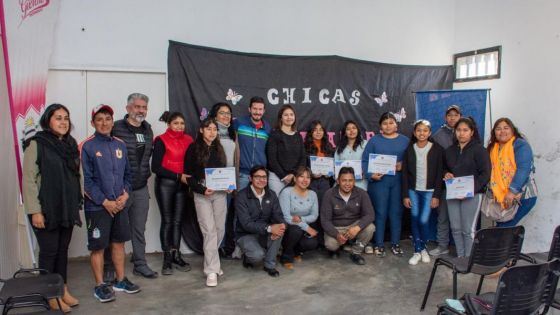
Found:
<path fill-rule="evenodd" d="M 95 133 L 80 145 L 84 178 L 84 210 L 95 277 L 94 296 L 101 302 L 115 300 L 114 291 L 137 293 L 140 287 L 124 275 L 124 243 L 130 240 L 125 207 L 132 189 L 126 145 L 111 136 L 113 109 L 98 105 L 91 113 Z M 111 247 L 116 279 L 103 282 L 103 252 Z"/>

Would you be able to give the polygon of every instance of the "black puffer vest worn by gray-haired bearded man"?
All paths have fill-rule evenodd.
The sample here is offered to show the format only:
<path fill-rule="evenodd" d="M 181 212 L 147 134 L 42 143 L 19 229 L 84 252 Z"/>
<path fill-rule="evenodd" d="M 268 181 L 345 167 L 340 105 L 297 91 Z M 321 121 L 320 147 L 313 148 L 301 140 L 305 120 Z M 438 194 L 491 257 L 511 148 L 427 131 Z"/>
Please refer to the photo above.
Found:
<path fill-rule="evenodd" d="M 130 164 L 130 172 L 132 173 L 132 189 L 137 190 L 148 184 L 148 178 L 152 175 L 150 171 L 150 157 L 152 156 L 152 144 L 154 141 L 154 132 L 152 126 L 147 121 L 142 122 L 145 133 L 145 147 L 144 155 L 138 165 L 138 158 L 136 156 L 136 133 L 131 129 L 130 123 L 127 121 L 128 115 L 123 119 L 115 121 L 113 126 L 113 136 L 121 139 L 126 143 L 126 150 L 128 153 L 128 162 Z"/>

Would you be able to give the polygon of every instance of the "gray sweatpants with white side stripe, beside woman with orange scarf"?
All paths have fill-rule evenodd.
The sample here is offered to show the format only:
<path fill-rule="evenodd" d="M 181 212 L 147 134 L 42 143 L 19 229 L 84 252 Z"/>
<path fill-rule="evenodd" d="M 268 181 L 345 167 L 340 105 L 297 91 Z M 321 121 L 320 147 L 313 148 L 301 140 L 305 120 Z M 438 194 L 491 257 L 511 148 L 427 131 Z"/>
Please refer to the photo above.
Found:
<path fill-rule="evenodd" d="M 447 200 L 451 234 L 453 234 L 458 257 L 471 254 L 481 201 L 482 194 L 475 194 L 473 198 L 463 200 Z"/>

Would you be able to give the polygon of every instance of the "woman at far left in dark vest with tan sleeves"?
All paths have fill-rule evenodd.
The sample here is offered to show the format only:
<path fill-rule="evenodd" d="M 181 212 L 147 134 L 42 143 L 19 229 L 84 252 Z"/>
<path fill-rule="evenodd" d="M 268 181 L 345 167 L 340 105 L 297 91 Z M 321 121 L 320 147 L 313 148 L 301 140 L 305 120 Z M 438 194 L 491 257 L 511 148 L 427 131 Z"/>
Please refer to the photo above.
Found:
<path fill-rule="evenodd" d="M 70 135 L 70 111 L 51 104 L 40 119 L 43 129 L 28 139 L 23 157 L 23 201 L 39 243 L 39 268 L 58 273 L 64 279 L 62 311 L 79 304 L 66 282 L 68 246 L 74 225 L 81 226 L 80 153 Z M 58 309 L 56 300 L 51 308 Z"/>

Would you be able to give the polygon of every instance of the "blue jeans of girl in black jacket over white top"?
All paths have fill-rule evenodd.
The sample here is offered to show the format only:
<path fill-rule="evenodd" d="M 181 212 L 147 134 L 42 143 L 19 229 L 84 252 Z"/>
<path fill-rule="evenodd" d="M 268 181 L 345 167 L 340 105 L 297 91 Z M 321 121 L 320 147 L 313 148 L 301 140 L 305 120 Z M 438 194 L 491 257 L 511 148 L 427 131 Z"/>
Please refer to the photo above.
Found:
<path fill-rule="evenodd" d="M 419 253 L 426 249 L 426 242 L 430 233 L 430 204 L 432 202 L 432 191 L 408 190 L 408 197 L 412 207 L 410 208 L 412 242 L 414 252 Z"/>

